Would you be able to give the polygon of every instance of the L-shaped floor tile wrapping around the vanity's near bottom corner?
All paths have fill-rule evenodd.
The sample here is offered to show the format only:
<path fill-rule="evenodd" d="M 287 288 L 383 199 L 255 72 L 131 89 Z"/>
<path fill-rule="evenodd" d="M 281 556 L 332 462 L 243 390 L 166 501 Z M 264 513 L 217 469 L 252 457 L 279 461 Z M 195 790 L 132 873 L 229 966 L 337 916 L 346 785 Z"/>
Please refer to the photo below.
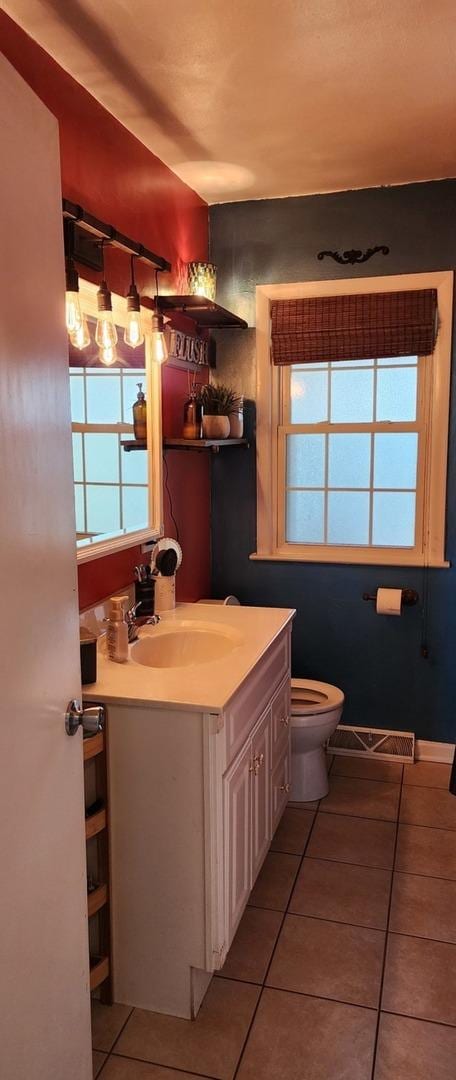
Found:
<path fill-rule="evenodd" d="M 259 994 L 259 986 L 214 978 L 196 1021 L 135 1009 L 116 1051 L 231 1080 Z"/>

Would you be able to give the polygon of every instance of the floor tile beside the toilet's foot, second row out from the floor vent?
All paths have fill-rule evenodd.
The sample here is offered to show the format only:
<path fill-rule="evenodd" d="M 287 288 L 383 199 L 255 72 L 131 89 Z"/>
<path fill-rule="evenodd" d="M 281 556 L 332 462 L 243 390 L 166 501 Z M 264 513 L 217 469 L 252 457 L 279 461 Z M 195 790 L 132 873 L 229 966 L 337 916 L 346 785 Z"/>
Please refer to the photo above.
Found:
<path fill-rule="evenodd" d="M 325 813 L 395 821 L 400 792 L 399 784 L 388 784 L 379 780 L 331 777 L 330 794 L 321 800 L 320 809 Z"/>

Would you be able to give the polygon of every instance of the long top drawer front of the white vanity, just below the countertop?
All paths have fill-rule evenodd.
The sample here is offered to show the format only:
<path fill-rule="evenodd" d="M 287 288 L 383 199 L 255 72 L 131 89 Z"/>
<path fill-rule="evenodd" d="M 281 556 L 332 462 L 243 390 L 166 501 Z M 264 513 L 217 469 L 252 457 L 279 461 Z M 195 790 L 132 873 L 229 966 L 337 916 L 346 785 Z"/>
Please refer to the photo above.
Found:
<path fill-rule="evenodd" d="M 270 646 L 226 710 L 226 766 L 249 739 L 255 721 L 290 670 L 290 633 L 284 630 Z"/>

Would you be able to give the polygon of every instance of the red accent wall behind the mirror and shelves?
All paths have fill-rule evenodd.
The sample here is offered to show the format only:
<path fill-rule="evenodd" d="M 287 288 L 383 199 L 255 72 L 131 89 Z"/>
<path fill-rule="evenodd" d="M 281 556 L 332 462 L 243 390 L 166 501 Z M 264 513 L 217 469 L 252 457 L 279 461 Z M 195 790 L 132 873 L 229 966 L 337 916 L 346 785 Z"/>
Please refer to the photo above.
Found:
<path fill-rule="evenodd" d="M 77 83 L 43 49 L 0 11 L 1 50 L 59 125 L 63 194 L 139 240 L 172 264 L 161 275 L 166 292 L 182 292 L 185 264 L 207 257 L 207 206 L 153 153 Z M 32 187 L 30 189 L 32 200 Z M 129 261 L 109 251 L 111 288 L 125 294 Z M 90 278 L 90 271 L 84 271 Z M 153 270 L 137 267 L 137 282 L 155 293 Z M 96 280 L 96 275 L 93 278 Z M 163 370 L 164 434 L 179 432 L 186 397 L 185 372 Z M 184 550 L 177 576 L 179 599 L 198 599 L 210 588 L 210 480 L 203 454 L 169 451 L 169 486 Z M 164 492 L 165 529 L 175 535 Z M 139 549 L 129 549 L 79 568 L 79 602 L 86 607 L 128 584 Z"/>

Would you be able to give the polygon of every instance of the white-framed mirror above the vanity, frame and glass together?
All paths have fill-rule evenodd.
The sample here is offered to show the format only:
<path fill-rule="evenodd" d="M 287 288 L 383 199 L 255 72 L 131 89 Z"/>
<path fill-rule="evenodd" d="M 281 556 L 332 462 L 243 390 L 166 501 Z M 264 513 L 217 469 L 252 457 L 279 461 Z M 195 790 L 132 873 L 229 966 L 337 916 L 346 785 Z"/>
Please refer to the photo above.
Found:
<path fill-rule="evenodd" d="M 80 282 L 80 301 L 91 343 L 79 350 L 69 342 L 69 379 L 77 551 L 78 561 L 84 561 L 159 535 L 161 409 L 159 365 L 150 370 L 147 333 L 136 349 L 123 341 L 125 300 L 112 296 L 118 345 L 109 367 L 95 343 L 96 286 Z M 144 311 L 145 330 L 149 319 Z M 125 450 L 125 443 L 135 443 L 138 382 L 147 400 L 148 445 Z"/>

